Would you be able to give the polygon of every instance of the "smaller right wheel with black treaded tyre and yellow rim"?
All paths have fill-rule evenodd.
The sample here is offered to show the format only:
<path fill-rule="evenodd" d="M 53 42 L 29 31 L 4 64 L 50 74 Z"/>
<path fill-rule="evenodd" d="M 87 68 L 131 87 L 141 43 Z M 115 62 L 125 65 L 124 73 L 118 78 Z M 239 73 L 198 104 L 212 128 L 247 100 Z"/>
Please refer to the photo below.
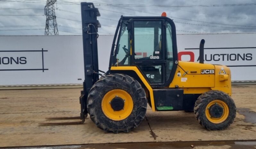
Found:
<path fill-rule="evenodd" d="M 216 112 L 210 111 L 212 106 L 217 106 L 217 116 L 212 116 Z M 218 113 L 219 111 L 223 114 Z M 236 115 L 235 102 L 228 94 L 222 91 L 210 90 L 198 97 L 194 106 L 194 114 L 197 121 L 204 128 L 208 130 L 223 130 L 234 122 Z"/>

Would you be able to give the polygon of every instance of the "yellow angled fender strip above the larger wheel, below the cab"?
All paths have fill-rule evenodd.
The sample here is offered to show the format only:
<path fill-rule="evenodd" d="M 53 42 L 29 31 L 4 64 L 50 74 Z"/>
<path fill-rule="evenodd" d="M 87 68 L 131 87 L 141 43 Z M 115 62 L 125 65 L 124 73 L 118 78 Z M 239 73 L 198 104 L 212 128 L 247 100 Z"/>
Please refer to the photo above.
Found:
<path fill-rule="evenodd" d="M 147 87 L 149 90 L 149 96 L 150 96 L 150 101 L 151 101 L 151 108 L 153 111 L 156 111 L 155 109 L 155 102 L 154 102 L 154 96 L 153 96 L 153 89 L 147 82 L 147 80 L 144 78 L 144 76 L 141 74 L 140 70 L 136 66 L 112 66 L 110 70 L 133 70 L 136 72 L 136 74 L 141 78 L 141 81 L 144 83 L 144 85 Z"/>

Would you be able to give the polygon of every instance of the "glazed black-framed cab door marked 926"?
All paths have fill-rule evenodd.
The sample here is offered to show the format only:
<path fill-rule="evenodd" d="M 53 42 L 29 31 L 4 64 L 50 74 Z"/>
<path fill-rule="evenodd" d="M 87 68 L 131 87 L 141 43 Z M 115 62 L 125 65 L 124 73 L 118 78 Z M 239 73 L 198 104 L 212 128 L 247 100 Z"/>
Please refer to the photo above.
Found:
<path fill-rule="evenodd" d="M 165 83 L 164 20 L 133 20 L 133 65 L 151 85 Z"/>

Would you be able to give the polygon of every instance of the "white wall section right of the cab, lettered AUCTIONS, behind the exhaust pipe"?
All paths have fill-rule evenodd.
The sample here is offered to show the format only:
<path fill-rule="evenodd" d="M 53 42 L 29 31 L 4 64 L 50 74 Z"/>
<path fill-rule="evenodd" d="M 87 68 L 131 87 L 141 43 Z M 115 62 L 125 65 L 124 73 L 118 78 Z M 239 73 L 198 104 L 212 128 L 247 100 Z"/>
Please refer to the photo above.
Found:
<path fill-rule="evenodd" d="M 199 62 L 201 39 L 204 63 L 230 67 L 232 81 L 256 80 L 256 33 L 177 35 L 179 58 Z"/>

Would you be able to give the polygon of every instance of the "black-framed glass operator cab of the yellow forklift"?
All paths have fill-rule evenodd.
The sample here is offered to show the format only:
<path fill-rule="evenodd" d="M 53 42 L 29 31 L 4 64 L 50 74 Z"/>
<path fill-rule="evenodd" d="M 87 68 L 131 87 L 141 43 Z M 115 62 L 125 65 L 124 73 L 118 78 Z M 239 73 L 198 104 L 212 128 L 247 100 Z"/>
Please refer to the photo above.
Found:
<path fill-rule="evenodd" d="M 150 85 L 168 86 L 177 68 L 174 22 L 167 17 L 123 17 L 111 49 L 111 66 L 137 66 Z"/>

